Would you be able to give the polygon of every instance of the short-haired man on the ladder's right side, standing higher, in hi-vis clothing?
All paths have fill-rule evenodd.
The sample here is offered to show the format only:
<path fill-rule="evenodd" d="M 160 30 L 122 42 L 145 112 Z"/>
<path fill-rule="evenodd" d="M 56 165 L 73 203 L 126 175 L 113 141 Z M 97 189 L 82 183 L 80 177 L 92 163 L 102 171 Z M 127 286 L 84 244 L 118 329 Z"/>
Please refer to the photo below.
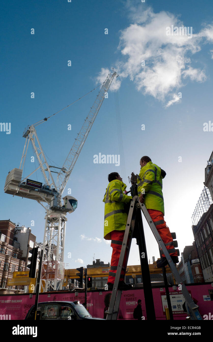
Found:
<path fill-rule="evenodd" d="M 162 179 L 166 176 L 166 172 L 159 168 L 159 166 L 153 164 L 150 157 L 147 156 L 141 158 L 140 166 L 141 170 L 137 181 L 138 196 L 140 196 L 139 201 L 144 203 L 172 261 L 178 263 L 179 260 L 177 251 L 174 248 L 172 235 L 169 231 L 169 227 L 164 221 Z M 162 253 L 162 260 L 157 261 L 157 267 L 164 267 L 167 264 L 168 261 Z"/>

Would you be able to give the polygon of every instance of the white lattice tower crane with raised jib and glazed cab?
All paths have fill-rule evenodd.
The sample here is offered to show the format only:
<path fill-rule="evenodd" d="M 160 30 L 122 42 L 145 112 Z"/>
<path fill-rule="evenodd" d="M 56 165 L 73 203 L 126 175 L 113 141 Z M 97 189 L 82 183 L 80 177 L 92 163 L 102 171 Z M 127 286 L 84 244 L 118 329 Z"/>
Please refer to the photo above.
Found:
<path fill-rule="evenodd" d="M 35 129 L 40 123 L 47 121 L 47 118 L 45 118 L 34 125 L 28 126 L 24 130 L 23 137 L 25 137 L 26 140 L 19 169 L 15 168 L 11 170 L 6 177 L 4 186 L 5 193 L 34 199 L 46 210 L 41 274 L 44 291 L 62 289 L 64 274 L 63 257 L 67 222 L 66 215 L 67 212 L 71 213 L 77 207 L 76 198 L 72 196 L 65 196 L 62 198 L 62 193 L 103 103 L 105 94 L 108 92 L 115 76 L 118 77 L 118 74 L 113 70 L 113 73 L 110 73 L 106 77 L 61 168 L 51 166 L 47 163 Z M 22 177 L 29 141 L 32 144 L 39 166 L 27 177 Z M 54 170 L 59 169 L 59 171 L 53 171 L 52 168 L 54 168 Z M 41 170 L 43 175 L 43 183 L 29 179 L 29 177 L 31 178 L 31 175 L 38 169 Z M 57 173 L 56 181 L 54 180 L 52 173 Z M 46 204 L 46 207 L 42 203 Z"/>

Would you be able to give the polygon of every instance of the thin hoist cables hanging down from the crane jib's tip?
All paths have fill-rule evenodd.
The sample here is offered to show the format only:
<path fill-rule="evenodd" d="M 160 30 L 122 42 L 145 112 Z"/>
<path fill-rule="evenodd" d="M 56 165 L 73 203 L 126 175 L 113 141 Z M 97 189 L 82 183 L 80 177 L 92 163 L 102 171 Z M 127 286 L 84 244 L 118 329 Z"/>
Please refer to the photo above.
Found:
<path fill-rule="evenodd" d="M 125 169 L 125 159 L 124 159 L 124 146 L 122 139 L 122 129 L 121 129 L 121 121 L 120 121 L 120 109 L 119 109 L 119 101 L 118 101 L 118 87 L 117 80 L 115 78 L 115 110 L 116 110 L 116 121 L 117 121 L 117 133 L 118 133 L 118 146 L 120 153 L 120 168 L 122 172 L 122 178 L 124 178 L 124 183 L 126 183 L 126 169 Z"/>

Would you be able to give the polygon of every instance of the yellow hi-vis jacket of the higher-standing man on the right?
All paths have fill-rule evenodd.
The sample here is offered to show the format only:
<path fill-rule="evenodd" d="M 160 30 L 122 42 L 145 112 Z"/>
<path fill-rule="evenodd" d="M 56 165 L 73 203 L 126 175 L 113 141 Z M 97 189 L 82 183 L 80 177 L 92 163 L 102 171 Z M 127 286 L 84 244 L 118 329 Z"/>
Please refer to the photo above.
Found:
<path fill-rule="evenodd" d="M 149 161 L 141 168 L 138 176 L 138 196 L 144 194 L 146 209 L 155 209 L 164 213 L 164 197 L 162 193 L 162 179 L 166 172 Z"/>

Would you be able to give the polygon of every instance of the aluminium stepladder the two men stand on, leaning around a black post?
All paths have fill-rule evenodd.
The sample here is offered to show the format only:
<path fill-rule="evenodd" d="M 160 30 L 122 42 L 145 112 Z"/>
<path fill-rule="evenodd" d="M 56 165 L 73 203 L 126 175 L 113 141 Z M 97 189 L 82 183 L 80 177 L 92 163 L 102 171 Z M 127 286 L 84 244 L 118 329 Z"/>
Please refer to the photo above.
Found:
<path fill-rule="evenodd" d="M 118 267 L 116 271 L 116 276 L 115 276 L 115 282 L 114 282 L 114 287 L 112 290 L 112 295 L 111 295 L 111 300 L 110 300 L 110 305 L 108 308 L 108 311 L 105 313 L 107 314 L 106 320 L 115 320 L 117 319 L 117 314 L 119 310 L 119 304 L 120 304 L 120 298 L 122 295 L 122 290 L 118 290 L 118 282 L 120 279 L 120 274 L 122 271 L 122 265 L 124 261 L 124 256 L 125 256 L 125 251 L 127 249 L 127 255 L 126 255 L 126 265 L 124 265 L 124 268 L 126 269 L 127 267 L 127 262 L 128 262 L 128 257 L 129 257 L 129 250 L 131 246 L 131 240 L 133 237 L 133 232 L 134 232 L 134 226 L 136 223 L 136 216 L 137 216 L 137 210 L 141 209 L 148 225 L 151 228 L 151 231 L 154 234 L 154 237 L 158 243 L 158 246 L 161 248 L 162 252 L 165 254 L 165 257 L 168 261 L 168 265 L 171 269 L 171 272 L 177 282 L 177 284 L 182 286 L 181 292 L 184 295 L 185 301 L 188 304 L 188 307 L 191 311 L 191 315 L 195 320 L 202 320 L 202 317 L 198 311 L 199 306 L 196 305 L 193 302 L 193 299 L 191 298 L 190 294 L 188 293 L 185 284 L 183 283 L 170 255 L 169 252 L 166 249 L 166 246 L 164 245 L 164 242 L 162 241 L 157 228 L 155 227 L 154 222 L 152 221 L 150 214 L 148 213 L 145 205 L 141 202 L 139 202 L 139 196 L 134 196 L 131 200 L 130 203 L 130 209 L 129 209 L 129 214 L 127 218 L 127 224 L 126 224 L 126 229 L 125 229 L 125 234 L 124 234 L 124 239 L 123 239 L 123 244 L 122 244 L 122 249 L 120 251 L 120 257 L 118 261 Z M 129 239 L 128 239 L 129 237 Z"/>

